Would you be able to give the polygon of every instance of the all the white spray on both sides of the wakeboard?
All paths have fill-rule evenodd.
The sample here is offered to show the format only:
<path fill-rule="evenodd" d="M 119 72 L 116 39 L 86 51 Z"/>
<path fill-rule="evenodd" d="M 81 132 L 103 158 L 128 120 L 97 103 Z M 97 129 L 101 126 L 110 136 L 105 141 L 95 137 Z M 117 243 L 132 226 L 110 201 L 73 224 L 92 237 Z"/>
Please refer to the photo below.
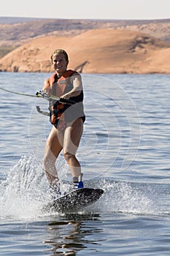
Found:
<path fill-rule="evenodd" d="M 64 165 L 63 165 L 64 169 Z M 65 176 L 66 176 L 66 169 Z M 62 172 L 61 172 L 62 173 Z M 61 176 L 64 177 L 64 171 Z M 67 177 L 68 178 L 68 177 Z M 66 186 L 66 184 L 62 184 Z M 124 181 L 113 181 L 105 178 L 95 178 L 85 181 L 85 187 L 104 189 L 104 195 L 92 206 L 85 208 L 84 213 L 129 213 L 155 214 L 160 207 L 155 189 L 146 184 Z M 42 217 L 42 208 L 51 200 L 47 178 L 41 165 L 34 157 L 22 157 L 17 165 L 12 167 L 9 176 L 0 184 L 1 218 L 32 219 Z M 58 214 L 57 212 L 48 212 Z"/>

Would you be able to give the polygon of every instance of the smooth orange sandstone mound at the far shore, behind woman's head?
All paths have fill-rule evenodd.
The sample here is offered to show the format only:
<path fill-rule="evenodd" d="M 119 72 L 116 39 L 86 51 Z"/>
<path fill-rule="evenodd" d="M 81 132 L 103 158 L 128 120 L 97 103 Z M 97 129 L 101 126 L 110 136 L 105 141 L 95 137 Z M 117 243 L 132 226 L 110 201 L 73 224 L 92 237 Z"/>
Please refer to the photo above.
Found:
<path fill-rule="evenodd" d="M 86 73 L 169 73 L 170 43 L 141 32 L 92 29 L 73 37 L 32 39 L 0 60 L 1 71 L 52 72 L 55 48 L 69 53 L 69 67 Z"/>

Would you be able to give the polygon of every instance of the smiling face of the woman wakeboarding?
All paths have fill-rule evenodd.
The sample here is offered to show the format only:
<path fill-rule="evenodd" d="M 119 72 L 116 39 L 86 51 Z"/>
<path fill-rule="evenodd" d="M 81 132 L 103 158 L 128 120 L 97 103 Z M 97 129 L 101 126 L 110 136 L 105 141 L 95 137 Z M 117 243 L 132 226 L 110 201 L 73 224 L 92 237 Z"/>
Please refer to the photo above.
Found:
<path fill-rule="evenodd" d="M 69 61 L 66 61 L 63 53 L 55 53 L 53 55 L 53 67 L 57 74 L 63 74 L 66 71 Z"/>

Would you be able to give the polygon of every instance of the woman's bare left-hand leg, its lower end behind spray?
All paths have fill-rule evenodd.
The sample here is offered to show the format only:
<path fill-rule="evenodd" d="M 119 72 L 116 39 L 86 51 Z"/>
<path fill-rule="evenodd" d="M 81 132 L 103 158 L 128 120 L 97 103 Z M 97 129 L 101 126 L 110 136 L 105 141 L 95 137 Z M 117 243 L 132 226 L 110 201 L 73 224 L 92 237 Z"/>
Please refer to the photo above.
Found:
<path fill-rule="evenodd" d="M 58 173 L 55 167 L 55 161 L 63 148 L 63 132 L 60 129 L 52 128 L 45 146 L 44 165 L 45 173 L 49 184 L 55 184 L 58 181 Z"/>

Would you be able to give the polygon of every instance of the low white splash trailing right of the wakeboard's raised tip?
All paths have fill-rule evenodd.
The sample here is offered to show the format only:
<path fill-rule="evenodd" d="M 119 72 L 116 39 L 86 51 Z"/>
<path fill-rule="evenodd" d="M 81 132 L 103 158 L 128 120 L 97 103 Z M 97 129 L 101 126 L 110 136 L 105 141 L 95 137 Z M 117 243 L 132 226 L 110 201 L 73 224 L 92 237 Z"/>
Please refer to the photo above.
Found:
<path fill-rule="evenodd" d="M 88 210 L 125 214 L 155 214 L 158 213 L 158 197 L 155 189 L 147 184 L 103 179 L 97 182 L 104 189 L 104 195 Z"/>

